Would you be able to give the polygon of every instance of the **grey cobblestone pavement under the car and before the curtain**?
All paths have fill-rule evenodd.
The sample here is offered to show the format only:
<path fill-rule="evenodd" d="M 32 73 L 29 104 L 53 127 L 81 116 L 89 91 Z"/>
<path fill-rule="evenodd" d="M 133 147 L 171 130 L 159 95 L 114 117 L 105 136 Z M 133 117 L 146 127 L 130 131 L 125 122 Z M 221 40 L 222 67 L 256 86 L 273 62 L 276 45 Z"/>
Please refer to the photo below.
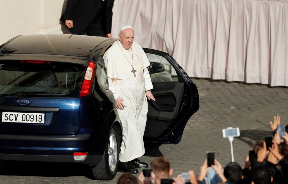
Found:
<path fill-rule="evenodd" d="M 209 79 L 193 82 L 198 87 L 200 109 L 188 121 L 181 142 L 146 144 L 146 153 L 140 160 L 150 163 L 154 157 L 163 155 L 171 162 L 176 176 L 188 170 L 199 172 L 206 152 L 213 151 L 225 166 L 231 161 L 231 149 L 228 138 L 222 137 L 222 129 L 239 127 L 240 137 L 233 141 L 234 161 L 243 168 L 253 143 L 272 135 L 269 121 L 274 115 L 280 115 L 287 124 L 287 87 Z M 90 173 L 83 165 L 67 163 L 0 162 L 0 183 L 5 184 L 115 184 L 121 175 L 117 173 L 111 181 L 97 181 L 91 179 Z"/>

